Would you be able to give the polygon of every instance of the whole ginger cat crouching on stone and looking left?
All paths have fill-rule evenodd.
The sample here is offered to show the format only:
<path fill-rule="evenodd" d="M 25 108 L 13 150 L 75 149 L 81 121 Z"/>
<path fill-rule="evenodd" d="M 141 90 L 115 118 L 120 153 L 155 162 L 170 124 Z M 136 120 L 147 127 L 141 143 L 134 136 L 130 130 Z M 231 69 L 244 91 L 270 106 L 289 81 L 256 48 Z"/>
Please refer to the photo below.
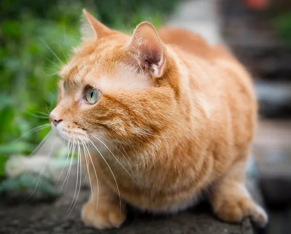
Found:
<path fill-rule="evenodd" d="M 189 31 L 143 22 L 130 37 L 83 12 L 84 42 L 61 71 L 50 119 L 83 147 L 84 224 L 119 227 L 126 203 L 177 212 L 207 191 L 218 218 L 264 226 L 244 186 L 257 102 L 243 66 Z"/>

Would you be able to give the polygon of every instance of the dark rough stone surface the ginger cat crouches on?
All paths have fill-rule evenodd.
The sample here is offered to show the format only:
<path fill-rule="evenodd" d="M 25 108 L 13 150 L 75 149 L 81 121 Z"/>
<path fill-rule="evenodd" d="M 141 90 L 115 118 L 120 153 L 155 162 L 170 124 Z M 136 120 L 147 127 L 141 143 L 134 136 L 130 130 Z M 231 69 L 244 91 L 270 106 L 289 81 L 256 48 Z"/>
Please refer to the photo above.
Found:
<path fill-rule="evenodd" d="M 98 231 L 83 226 L 80 210 L 90 191 L 82 187 L 77 203 L 67 215 L 74 188 L 57 201 L 26 200 L 27 196 L 2 198 L 0 234 L 252 234 L 248 219 L 228 224 L 215 218 L 210 207 L 202 204 L 171 216 L 141 214 L 129 209 L 128 220 L 119 229 Z"/>

